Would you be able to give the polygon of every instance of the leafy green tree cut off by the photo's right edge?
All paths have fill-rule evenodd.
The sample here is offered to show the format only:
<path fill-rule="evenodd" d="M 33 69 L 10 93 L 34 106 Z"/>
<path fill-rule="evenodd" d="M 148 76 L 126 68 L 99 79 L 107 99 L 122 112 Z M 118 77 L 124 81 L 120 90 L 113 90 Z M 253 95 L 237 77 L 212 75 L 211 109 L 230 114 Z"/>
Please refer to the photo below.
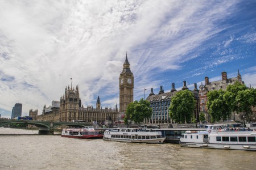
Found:
<path fill-rule="evenodd" d="M 246 114 L 247 119 L 250 119 L 251 107 L 255 105 L 255 92 L 253 89 L 246 89 L 238 91 L 236 96 L 236 103 L 238 104 L 238 111 L 244 112 Z"/>

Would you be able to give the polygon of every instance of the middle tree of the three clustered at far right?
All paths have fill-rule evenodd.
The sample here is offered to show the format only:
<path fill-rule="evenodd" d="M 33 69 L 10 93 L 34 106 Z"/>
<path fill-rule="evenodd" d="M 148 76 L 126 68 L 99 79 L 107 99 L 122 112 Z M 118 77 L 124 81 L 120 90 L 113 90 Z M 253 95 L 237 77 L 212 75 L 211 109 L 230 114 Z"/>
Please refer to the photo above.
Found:
<path fill-rule="evenodd" d="M 236 99 L 238 92 L 246 90 L 245 84 L 242 84 L 240 82 L 236 82 L 234 84 L 230 84 L 226 88 L 226 94 L 224 95 L 224 100 L 226 104 L 228 104 L 229 108 L 235 114 L 235 112 L 238 113 L 238 100 Z M 235 118 L 235 115 L 234 115 Z M 234 119 L 235 121 L 235 119 Z"/>

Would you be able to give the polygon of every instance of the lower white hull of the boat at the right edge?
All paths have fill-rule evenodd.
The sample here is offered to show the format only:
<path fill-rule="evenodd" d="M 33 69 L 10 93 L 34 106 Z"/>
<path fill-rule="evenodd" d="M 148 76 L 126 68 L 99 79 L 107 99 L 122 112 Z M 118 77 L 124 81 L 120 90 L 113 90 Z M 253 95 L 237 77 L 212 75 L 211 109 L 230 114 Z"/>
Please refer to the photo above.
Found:
<path fill-rule="evenodd" d="M 195 147 L 195 148 L 215 148 L 225 150 L 247 150 L 256 151 L 255 145 L 250 144 L 222 144 L 222 143 L 189 143 L 180 142 L 181 147 Z"/>

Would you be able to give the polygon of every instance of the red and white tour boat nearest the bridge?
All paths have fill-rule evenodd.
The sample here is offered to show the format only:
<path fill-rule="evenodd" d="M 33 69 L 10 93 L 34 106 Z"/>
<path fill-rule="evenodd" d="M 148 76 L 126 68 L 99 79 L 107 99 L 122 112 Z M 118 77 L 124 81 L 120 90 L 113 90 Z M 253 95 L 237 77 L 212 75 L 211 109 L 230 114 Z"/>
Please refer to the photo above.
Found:
<path fill-rule="evenodd" d="M 85 126 L 85 128 L 65 128 L 62 130 L 61 137 L 92 139 L 102 138 L 100 131 L 95 131 L 93 126 Z"/>

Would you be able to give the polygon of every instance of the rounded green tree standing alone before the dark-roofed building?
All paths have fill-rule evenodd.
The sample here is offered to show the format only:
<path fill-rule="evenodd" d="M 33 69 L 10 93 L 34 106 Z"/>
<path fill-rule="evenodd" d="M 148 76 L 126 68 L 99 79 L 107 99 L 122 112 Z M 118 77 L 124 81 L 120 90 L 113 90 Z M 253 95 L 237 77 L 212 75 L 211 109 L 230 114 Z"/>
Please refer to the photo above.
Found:
<path fill-rule="evenodd" d="M 170 117 L 179 123 L 191 122 L 195 104 L 196 101 L 191 91 L 182 90 L 177 92 L 171 99 Z"/>

